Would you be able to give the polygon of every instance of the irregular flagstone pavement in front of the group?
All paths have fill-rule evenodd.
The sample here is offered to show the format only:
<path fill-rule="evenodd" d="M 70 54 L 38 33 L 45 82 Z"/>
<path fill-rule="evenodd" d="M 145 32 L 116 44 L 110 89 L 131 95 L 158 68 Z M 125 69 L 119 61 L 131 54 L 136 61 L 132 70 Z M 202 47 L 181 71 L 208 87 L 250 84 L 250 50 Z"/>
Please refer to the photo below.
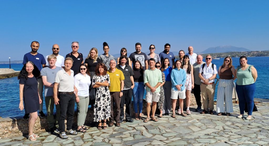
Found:
<path fill-rule="evenodd" d="M 258 112 L 253 112 L 251 120 L 246 116 L 238 119 L 238 104 L 233 104 L 231 116 L 200 114 L 192 109 L 187 117 L 163 116 L 158 122 L 122 123 L 121 127 L 97 130 L 90 127 L 86 133 L 68 135 L 62 140 L 58 135 L 40 133 L 37 141 L 29 141 L 23 136 L 0 139 L 4 145 L 269 145 L 269 100 L 256 99 Z M 145 116 L 144 116 L 145 117 Z M 75 128 L 74 128 L 75 129 Z"/>

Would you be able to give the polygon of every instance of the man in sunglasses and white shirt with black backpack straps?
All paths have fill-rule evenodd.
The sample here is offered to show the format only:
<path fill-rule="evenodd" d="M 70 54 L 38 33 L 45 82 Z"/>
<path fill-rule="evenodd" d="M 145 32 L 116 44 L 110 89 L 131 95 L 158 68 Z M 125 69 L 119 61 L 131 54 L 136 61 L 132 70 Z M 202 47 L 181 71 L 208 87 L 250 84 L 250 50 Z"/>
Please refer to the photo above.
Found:
<path fill-rule="evenodd" d="M 215 77 L 218 74 L 217 66 L 211 63 L 211 55 L 206 56 L 206 64 L 201 65 L 199 70 L 199 77 L 201 79 L 201 93 L 203 98 L 204 110 L 201 114 L 214 114 L 214 95 L 215 95 Z"/>

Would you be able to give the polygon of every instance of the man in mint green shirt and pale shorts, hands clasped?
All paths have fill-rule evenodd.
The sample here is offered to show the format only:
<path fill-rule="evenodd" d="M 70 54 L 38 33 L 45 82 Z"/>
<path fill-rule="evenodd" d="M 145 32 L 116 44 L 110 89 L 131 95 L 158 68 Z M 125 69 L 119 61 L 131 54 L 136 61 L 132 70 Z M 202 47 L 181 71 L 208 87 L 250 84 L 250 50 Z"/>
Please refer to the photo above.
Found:
<path fill-rule="evenodd" d="M 145 70 L 144 72 L 144 84 L 146 85 L 146 102 L 147 102 L 147 118 L 144 122 L 148 122 L 150 120 L 150 105 L 152 103 L 152 117 L 151 120 L 157 122 L 158 120 L 155 118 L 155 111 L 157 107 L 157 102 L 160 98 L 160 85 L 162 83 L 162 72 L 160 69 L 155 68 L 155 60 L 154 58 L 150 58 L 149 60 L 150 68 Z"/>

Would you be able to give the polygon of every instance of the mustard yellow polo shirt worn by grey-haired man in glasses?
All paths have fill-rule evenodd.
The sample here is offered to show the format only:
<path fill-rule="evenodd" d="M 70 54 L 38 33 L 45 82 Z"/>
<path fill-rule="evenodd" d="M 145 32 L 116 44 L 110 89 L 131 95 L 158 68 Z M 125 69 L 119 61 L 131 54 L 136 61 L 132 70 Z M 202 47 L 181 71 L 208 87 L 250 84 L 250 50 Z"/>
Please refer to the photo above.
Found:
<path fill-rule="evenodd" d="M 121 81 L 124 80 L 124 75 L 121 70 L 116 68 L 114 72 L 112 72 L 110 69 L 107 71 L 107 74 L 109 74 L 110 79 L 110 86 L 109 91 L 110 92 L 120 92 L 121 91 Z"/>

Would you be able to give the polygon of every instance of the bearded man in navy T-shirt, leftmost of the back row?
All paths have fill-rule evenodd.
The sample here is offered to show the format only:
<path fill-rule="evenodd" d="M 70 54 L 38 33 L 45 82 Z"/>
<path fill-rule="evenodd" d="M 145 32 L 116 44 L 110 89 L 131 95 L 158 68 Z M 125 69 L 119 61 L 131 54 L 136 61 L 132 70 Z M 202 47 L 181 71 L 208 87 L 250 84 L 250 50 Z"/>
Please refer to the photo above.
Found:
<path fill-rule="evenodd" d="M 32 61 L 34 65 L 36 65 L 38 70 L 41 71 L 41 69 L 45 67 L 46 61 L 42 54 L 37 53 L 37 50 L 39 49 L 38 41 L 33 41 L 31 43 L 31 49 L 32 49 L 31 52 L 26 53 L 24 55 L 22 64 L 25 64 L 28 61 Z M 39 105 L 38 116 L 40 116 L 41 118 L 44 118 L 46 115 L 43 113 L 43 82 L 42 82 L 41 76 L 37 78 L 37 82 L 38 82 L 38 93 L 42 100 L 42 102 Z M 23 119 L 29 119 L 29 114 L 25 114 L 23 116 Z"/>

